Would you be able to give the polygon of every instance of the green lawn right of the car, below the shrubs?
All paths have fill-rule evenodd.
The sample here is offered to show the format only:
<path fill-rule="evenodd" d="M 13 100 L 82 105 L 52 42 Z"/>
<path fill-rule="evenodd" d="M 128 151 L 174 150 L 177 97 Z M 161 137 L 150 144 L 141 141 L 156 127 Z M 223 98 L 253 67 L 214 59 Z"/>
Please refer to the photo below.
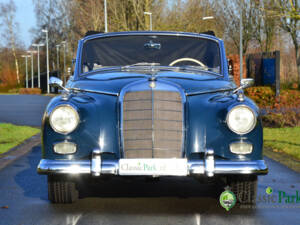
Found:
<path fill-rule="evenodd" d="M 264 145 L 300 160 L 300 127 L 264 128 Z"/>

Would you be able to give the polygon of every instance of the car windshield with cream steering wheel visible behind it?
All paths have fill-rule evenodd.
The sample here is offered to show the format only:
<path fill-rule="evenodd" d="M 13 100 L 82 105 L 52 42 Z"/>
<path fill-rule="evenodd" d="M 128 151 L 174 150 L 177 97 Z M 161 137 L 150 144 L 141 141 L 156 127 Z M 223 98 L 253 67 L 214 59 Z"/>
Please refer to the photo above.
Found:
<path fill-rule="evenodd" d="M 204 38 L 166 35 L 128 35 L 86 41 L 81 72 L 108 67 L 191 67 L 220 73 L 217 42 Z"/>

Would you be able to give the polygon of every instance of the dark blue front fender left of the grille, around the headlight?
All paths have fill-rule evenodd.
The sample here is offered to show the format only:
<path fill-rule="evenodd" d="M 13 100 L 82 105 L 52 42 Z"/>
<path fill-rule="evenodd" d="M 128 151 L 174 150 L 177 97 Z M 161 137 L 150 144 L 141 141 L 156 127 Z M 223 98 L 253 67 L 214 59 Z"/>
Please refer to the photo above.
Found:
<path fill-rule="evenodd" d="M 70 134 L 56 133 L 49 124 L 53 109 L 61 104 L 77 108 L 80 122 Z M 120 157 L 118 133 L 117 97 L 94 94 L 71 94 L 67 100 L 55 97 L 48 104 L 42 124 L 42 152 L 46 159 L 88 159 L 94 149 Z M 72 155 L 60 155 L 53 151 L 53 145 L 62 141 L 74 142 L 78 151 Z"/>

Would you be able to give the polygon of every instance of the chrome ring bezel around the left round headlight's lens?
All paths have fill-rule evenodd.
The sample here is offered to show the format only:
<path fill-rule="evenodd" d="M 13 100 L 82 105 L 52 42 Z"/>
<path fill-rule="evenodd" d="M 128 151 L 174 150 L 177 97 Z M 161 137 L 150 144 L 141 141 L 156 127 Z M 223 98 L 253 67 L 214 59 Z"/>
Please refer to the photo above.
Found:
<path fill-rule="evenodd" d="M 53 115 L 54 115 L 54 113 L 57 112 L 57 110 L 59 110 L 59 109 L 61 109 L 61 108 L 68 108 L 69 110 L 71 110 L 70 112 L 72 112 L 73 115 L 74 115 L 74 118 L 75 118 L 75 124 L 74 124 L 73 127 L 71 127 L 71 129 L 69 129 L 69 130 L 61 130 L 61 129 L 59 129 L 58 126 L 57 126 L 57 125 L 55 124 L 55 122 L 53 121 Z M 76 109 L 74 106 L 69 105 L 69 104 L 62 104 L 62 105 L 56 106 L 56 107 L 52 110 L 52 112 L 51 112 L 51 114 L 50 114 L 50 116 L 49 116 L 49 123 L 50 123 L 51 128 L 52 128 L 55 132 L 60 133 L 60 134 L 69 134 L 69 133 L 73 132 L 73 131 L 78 127 L 79 122 L 80 122 L 80 121 L 79 121 L 79 114 L 78 114 L 77 109 Z"/>

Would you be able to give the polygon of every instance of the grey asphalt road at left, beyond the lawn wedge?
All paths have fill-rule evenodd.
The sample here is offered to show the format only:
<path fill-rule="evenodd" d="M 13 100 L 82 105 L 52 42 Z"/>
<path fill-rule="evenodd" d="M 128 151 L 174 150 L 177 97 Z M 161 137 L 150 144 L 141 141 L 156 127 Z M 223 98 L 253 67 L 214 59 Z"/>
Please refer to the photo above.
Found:
<path fill-rule="evenodd" d="M 39 127 L 50 99 L 41 95 L 0 95 L 0 123 Z"/>

